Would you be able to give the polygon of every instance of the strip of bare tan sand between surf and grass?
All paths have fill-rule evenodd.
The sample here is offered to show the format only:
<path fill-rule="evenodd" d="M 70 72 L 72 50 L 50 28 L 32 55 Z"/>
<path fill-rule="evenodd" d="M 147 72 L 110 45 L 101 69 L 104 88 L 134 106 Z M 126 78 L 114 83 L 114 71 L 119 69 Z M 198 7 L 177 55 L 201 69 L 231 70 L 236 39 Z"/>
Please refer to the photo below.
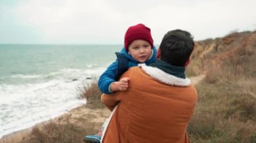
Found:
<path fill-rule="evenodd" d="M 42 128 L 43 126 L 45 126 L 46 124 L 49 124 L 50 122 L 55 122 L 57 124 L 64 124 L 67 120 L 69 120 L 71 124 L 75 124 L 77 126 L 83 126 L 83 123 L 79 121 L 80 117 L 83 117 L 90 122 L 102 124 L 109 115 L 110 115 L 110 111 L 106 107 L 102 109 L 90 109 L 86 107 L 86 105 L 81 105 L 79 107 L 71 109 L 69 112 L 64 113 L 63 115 L 59 115 L 58 117 L 55 117 L 53 120 L 40 122 L 35 126 L 32 126 L 31 128 L 27 128 L 24 130 L 13 132 L 11 134 L 7 134 L 0 139 L 0 143 L 21 142 L 22 140 L 30 136 L 30 134 L 32 133 L 32 129 L 34 127 Z"/>

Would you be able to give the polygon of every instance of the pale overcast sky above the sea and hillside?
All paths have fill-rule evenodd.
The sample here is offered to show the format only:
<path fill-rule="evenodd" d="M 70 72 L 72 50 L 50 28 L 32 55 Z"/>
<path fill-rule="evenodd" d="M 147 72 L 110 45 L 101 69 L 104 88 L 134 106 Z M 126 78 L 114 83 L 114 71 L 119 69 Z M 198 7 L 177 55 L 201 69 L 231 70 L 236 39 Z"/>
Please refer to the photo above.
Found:
<path fill-rule="evenodd" d="M 255 0 L 0 0 L 0 44 L 123 44 L 144 23 L 155 44 L 168 30 L 195 40 L 256 30 Z"/>

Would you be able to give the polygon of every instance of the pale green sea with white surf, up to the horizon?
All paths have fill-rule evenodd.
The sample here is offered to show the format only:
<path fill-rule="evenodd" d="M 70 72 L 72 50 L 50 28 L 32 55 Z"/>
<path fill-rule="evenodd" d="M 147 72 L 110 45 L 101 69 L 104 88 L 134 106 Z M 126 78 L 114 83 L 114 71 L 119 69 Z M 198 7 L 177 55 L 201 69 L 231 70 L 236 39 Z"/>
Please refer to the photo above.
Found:
<path fill-rule="evenodd" d="M 0 44 L 0 138 L 80 105 L 121 45 Z"/>

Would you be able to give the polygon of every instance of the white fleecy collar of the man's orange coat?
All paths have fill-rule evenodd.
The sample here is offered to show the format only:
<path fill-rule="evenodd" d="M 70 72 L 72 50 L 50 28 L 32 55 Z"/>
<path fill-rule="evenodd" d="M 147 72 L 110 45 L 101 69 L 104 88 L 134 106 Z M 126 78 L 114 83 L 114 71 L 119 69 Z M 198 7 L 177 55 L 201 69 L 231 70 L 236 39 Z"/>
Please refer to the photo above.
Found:
<path fill-rule="evenodd" d="M 191 84 L 190 79 L 175 77 L 174 75 L 165 73 L 159 68 L 147 66 L 146 64 L 138 64 L 138 66 L 140 66 L 148 75 L 150 75 L 150 77 L 158 79 L 159 81 L 162 81 L 162 83 L 179 87 L 187 87 Z"/>

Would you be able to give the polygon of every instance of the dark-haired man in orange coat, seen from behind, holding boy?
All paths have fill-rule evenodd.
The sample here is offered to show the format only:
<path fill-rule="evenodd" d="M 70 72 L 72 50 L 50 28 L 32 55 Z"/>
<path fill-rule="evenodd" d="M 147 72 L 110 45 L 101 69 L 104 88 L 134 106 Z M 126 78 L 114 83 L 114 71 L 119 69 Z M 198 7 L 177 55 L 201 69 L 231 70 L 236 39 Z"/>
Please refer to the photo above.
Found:
<path fill-rule="evenodd" d="M 122 75 L 129 78 L 127 91 L 102 95 L 109 109 L 119 103 L 102 142 L 189 142 L 186 130 L 197 91 L 185 76 L 185 66 L 193 48 L 189 32 L 168 32 L 158 49 L 159 60 Z"/>

